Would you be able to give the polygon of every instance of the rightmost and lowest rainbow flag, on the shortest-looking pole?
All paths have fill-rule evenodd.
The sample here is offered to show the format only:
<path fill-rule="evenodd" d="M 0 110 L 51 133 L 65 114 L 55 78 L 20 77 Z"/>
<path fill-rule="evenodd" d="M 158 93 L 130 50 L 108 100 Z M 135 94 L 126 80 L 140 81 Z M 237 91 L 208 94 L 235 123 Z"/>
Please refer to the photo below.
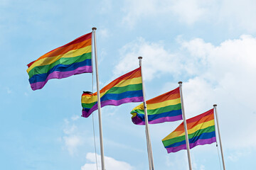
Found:
<path fill-rule="evenodd" d="M 189 147 L 206 145 L 216 142 L 213 109 L 186 120 L 188 128 Z M 186 149 L 184 125 L 181 125 L 162 140 L 168 153 Z"/>

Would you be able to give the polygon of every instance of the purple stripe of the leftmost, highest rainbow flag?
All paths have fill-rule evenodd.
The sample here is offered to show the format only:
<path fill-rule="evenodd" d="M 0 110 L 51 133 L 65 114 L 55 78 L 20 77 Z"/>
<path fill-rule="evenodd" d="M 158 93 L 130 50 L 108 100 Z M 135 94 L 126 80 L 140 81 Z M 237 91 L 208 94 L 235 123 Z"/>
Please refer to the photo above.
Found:
<path fill-rule="evenodd" d="M 74 69 L 69 72 L 52 72 L 51 74 L 48 75 L 48 77 L 46 78 L 46 81 L 41 81 L 41 82 L 36 82 L 31 84 L 31 89 L 32 90 L 42 89 L 49 79 L 63 79 L 65 77 L 70 77 L 75 74 L 91 73 L 91 72 L 92 72 L 92 66 L 78 67 L 77 69 Z"/>

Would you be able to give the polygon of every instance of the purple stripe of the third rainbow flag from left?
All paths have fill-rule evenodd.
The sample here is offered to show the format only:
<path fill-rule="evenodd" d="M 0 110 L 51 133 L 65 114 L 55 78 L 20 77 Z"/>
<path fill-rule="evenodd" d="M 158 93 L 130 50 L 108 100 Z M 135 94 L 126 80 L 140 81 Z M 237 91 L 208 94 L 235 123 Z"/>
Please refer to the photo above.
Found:
<path fill-rule="evenodd" d="M 158 119 L 149 121 L 149 124 L 174 122 L 176 120 L 182 120 L 182 115 L 175 115 L 175 116 L 171 116 L 171 117 L 168 116 L 168 117 L 158 118 Z M 132 118 L 132 122 L 135 125 L 145 125 L 145 122 L 142 121 L 137 115 L 134 118 Z"/>

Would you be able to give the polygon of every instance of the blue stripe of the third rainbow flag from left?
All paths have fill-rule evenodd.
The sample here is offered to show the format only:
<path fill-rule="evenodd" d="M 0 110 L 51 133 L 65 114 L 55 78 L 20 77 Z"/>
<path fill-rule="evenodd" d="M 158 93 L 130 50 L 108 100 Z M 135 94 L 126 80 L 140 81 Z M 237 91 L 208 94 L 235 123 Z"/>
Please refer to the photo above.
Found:
<path fill-rule="evenodd" d="M 137 113 L 137 112 L 135 112 Z M 176 110 L 176 111 L 169 111 L 169 112 L 164 112 L 164 113 L 159 113 L 159 114 L 154 114 L 154 115 L 148 115 L 149 121 L 151 120 L 156 120 L 158 118 L 164 118 L 164 117 L 172 117 L 176 115 L 182 115 L 182 111 Z M 142 120 L 145 121 L 145 116 L 144 114 L 137 113 L 137 116 Z"/>

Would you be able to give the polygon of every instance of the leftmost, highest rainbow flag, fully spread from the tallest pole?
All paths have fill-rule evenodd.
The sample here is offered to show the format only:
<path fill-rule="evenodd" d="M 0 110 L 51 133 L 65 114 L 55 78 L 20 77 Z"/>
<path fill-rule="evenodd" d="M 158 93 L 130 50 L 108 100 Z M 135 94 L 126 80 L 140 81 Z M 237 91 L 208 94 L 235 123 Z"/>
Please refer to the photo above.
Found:
<path fill-rule="evenodd" d="M 28 64 L 31 89 L 42 89 L 49 79 L 92 72 L 92 33 L 51 50 Z"/>

